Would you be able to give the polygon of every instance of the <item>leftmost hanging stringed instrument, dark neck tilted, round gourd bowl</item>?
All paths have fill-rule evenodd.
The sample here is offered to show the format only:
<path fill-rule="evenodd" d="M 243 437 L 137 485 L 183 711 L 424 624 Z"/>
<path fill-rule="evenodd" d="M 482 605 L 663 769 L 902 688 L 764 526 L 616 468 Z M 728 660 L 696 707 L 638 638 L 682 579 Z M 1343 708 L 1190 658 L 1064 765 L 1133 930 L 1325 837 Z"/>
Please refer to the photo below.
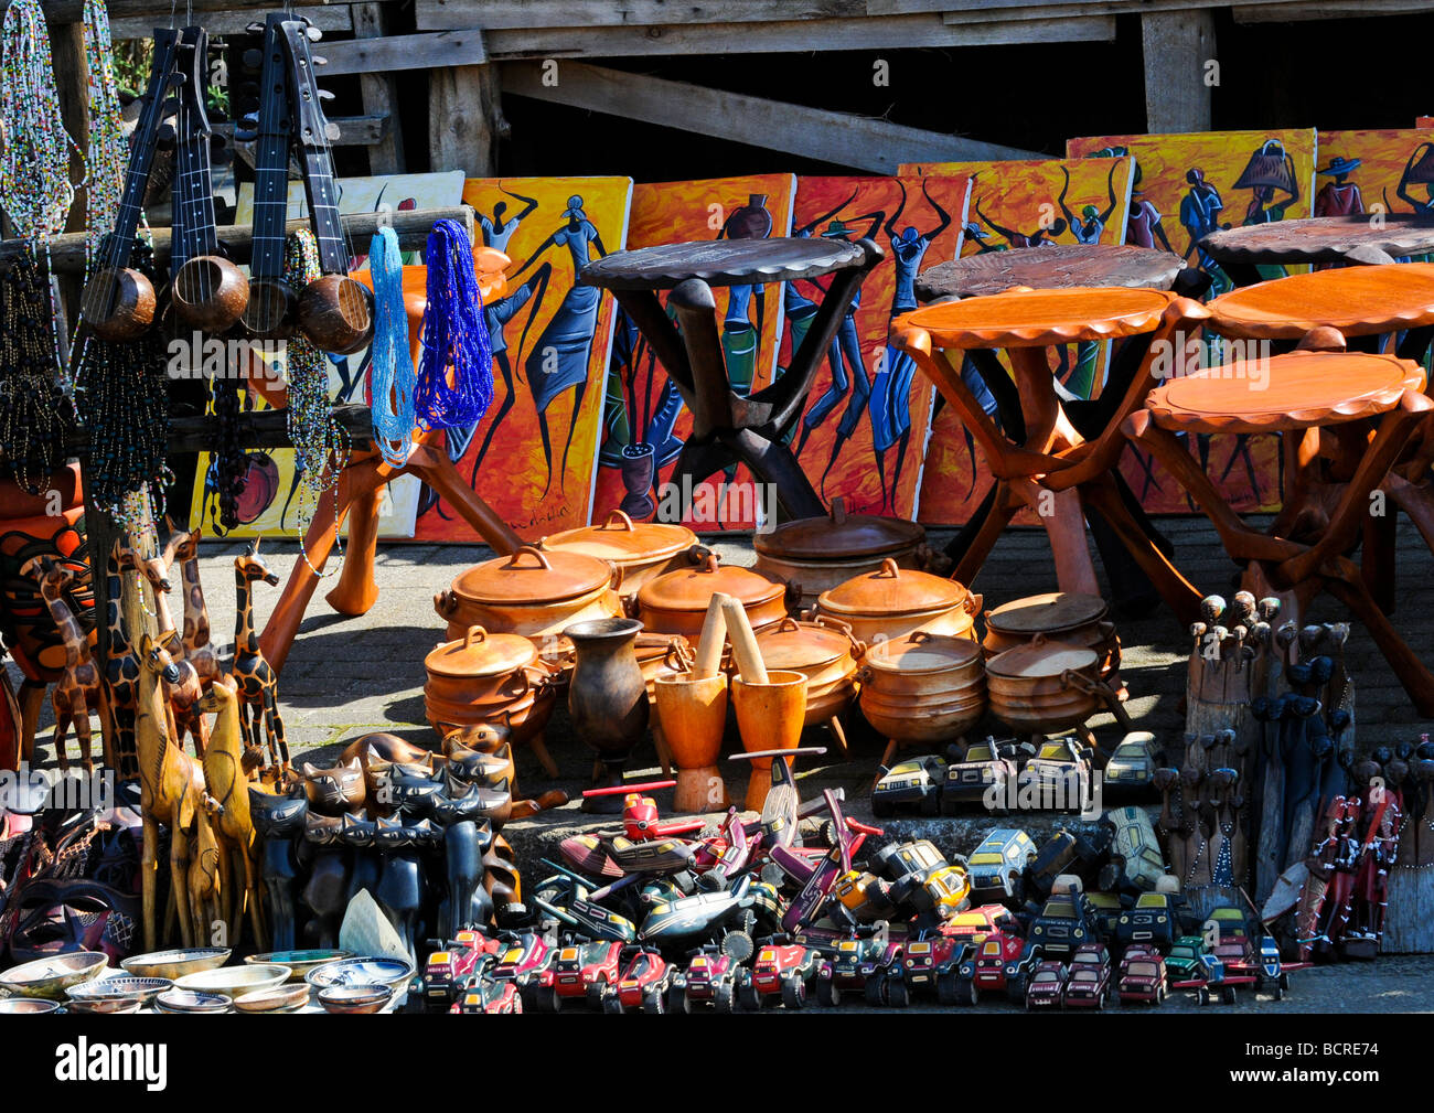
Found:
<path fill-rule="evenodd" d="M 125 191 L 119 201 L 115 228 L 100 241 L 95 274 L 80 294 L 80 320 L 102 340 L 120 341 L 142 336 L 155 320 L 155 287 L 129 265 L 143 209 L 145 186 L 155 162 L 159 125 L 165 116 L 165 98 L 175 83 L 175 59 L 179 33 L 155 30 L 153 63 L 149 85 L 141 100 L 143 108 L 135 125 L 125 171 Z"/>

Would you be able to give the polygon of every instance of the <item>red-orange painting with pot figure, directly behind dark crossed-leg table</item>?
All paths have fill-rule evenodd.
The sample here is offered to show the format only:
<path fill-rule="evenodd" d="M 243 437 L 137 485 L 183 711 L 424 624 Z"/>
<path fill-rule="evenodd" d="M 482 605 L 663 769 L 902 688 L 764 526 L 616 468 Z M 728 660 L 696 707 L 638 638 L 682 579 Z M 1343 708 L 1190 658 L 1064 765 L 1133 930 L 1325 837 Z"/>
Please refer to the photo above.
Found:
<path fill-rule="evenodd" d="M 632 189 L 628 247 L 697 240 L 766 240 L 792 229 L 796 178 L 767 174 Z M 714 287 L 727 377 L 740 393 L 767 386 L 782 340 L 782 284 Z M 665 295 L 663 297 L 665 303 Z M 693 419 L 677 387 L 632 321 L 618 313 L 607 376 L 607 410 L 594 518 L 621 509 L 651 519 L 678 501 L 664 498 Z M 687 524 L 698 531 L 751 529 L 757 499 L 746 468 L 731 468 L 691 489 Z"/>

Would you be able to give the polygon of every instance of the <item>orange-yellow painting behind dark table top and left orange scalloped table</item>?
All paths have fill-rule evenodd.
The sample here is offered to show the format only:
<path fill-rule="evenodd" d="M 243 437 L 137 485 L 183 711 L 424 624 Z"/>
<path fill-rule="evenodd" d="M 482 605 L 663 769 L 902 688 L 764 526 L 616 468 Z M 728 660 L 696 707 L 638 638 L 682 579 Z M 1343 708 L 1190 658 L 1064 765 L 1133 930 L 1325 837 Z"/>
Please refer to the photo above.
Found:
<path fill-rule="evenodd" d="M 909 164 L 901 172 L 971 176 L 964 257 L 1040 250 L 1045 244 L 1120 244 L 1124 238 L 1133 176 L 1129 158 Z M 1094 341 L 1055 349 L 1051 371 L 1067 393 L 1094 397 L 1104 380 L 1107 349 Z M 995 416 L 995 399 L 969 360 L 962 377 Z M 971 435 L 938 396 L 921 485 L 921 521 L 965 522 L 989 486 L 991 473 Z"/>

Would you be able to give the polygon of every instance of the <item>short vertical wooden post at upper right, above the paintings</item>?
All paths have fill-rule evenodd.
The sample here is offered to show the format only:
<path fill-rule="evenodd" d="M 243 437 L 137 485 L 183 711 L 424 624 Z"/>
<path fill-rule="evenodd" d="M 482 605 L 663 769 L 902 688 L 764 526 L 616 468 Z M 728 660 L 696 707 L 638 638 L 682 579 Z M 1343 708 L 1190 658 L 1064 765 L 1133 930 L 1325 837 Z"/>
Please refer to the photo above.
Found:
<path fill-rule="evenodd" d="M 1146 56 L 1146 131 L 1207 132 L 1210 87 L 1219 83 L 1215 16 L 1209 9 L 1147 11 L 1140 17 L 1140 39 Z"/>

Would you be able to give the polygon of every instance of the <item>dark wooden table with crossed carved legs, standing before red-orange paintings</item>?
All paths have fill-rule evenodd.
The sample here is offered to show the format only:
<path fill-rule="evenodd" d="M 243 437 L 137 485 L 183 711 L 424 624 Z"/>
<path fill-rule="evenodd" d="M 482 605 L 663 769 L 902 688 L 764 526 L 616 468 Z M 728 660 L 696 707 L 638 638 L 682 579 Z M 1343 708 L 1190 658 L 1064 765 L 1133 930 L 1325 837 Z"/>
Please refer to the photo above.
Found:
<path fill-rule="evenodd" d="M 677 460 L 674 482 L 707 476 L 741 462 L 777 489 L 792 518 L 826 513 L 820 496 L 786 446 L 802 416 L 817 367 L 868 273 L 882 260 L 870 240 L 716 240 L 624 251 L 582 268 L 582 281 L 611 290 L 637 324 L 693 415 L 693 433 Z M 792 364 L 754 394 L 731 387 L 717 331 L 713 287 L 790 283 L 832 274 L 826 297 Z M 657 291 L 670 290 L 667 316 Z"/>

